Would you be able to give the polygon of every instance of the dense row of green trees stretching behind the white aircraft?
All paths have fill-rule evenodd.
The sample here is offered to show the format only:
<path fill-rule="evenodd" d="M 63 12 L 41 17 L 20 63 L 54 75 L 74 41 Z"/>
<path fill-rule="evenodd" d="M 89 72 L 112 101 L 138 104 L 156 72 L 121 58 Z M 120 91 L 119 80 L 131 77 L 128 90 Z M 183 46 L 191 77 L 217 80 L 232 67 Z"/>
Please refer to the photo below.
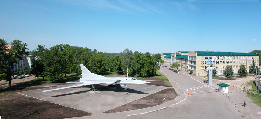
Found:
<path fill-rule="evenodd" d="M 155 75 L 159 66 L 160 54 L 151 56 L 150 53 L 140 53 L 126 48 L 121 53 L 103 53 L 89 48 L 59 44 L 50 49 L 38 45 L 36 50 L 29 53 L 36 56 L 32 60 L 32 74 L 56 82 L 63 79 L 66 73 L 81 73 L 80 64 L 86 66 L 92 73 L 105 71 L 123 71 L 130 76 L 132 74 L 147 77 Z"/>

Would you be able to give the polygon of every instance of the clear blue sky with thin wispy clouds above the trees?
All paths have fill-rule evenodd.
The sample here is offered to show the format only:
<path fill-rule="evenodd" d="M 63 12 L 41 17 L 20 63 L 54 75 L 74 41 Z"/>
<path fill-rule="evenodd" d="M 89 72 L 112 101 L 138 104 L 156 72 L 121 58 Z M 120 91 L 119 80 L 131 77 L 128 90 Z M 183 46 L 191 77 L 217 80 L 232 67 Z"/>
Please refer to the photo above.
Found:
<path fill-rule="evenodd" d="M 261 1 L 1 0 L 0 38 L 120 53 L 261 50 Z"/>

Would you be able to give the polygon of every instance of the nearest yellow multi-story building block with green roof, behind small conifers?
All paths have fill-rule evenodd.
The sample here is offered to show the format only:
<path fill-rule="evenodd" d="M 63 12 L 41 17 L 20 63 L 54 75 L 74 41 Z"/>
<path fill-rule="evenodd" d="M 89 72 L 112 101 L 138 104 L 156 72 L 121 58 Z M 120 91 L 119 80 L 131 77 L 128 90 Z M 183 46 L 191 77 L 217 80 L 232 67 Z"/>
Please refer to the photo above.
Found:
<path fill-rule="evenodd" d="M 259 54 L 256 53 L 189 51 L 188 72 L 197 76 L 207 75 L 207 59 L 210 57 L 216 59 L 213 62 L 217 74 L 223 74 L 226 66 L 232 66 L 234 73 L 237 73 L 240 64 L 246 67 L 247 72 L 253 61 L 259 66 Z"/>

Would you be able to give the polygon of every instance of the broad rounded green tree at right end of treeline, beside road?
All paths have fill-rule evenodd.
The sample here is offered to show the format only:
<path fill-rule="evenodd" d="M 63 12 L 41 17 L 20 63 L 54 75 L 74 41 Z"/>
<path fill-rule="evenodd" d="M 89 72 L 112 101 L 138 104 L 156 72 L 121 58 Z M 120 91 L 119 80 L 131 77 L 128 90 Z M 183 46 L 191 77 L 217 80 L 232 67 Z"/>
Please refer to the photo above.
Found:
<path fill-rule="evenodd" d="M 156 74 L 157 70 L 160 69 L 160 66 L 157 65 L 156 60 L 152 58 L 149 52 L 146 52 L 145 55 L 141 55 L 141 76 L 153 76 Z"/>

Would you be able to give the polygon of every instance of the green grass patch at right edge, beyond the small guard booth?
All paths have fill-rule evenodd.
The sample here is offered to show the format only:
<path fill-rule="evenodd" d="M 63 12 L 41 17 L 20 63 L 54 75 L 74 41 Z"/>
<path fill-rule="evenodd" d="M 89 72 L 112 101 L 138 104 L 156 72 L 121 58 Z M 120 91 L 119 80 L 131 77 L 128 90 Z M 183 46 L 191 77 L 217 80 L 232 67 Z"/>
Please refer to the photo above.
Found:
<path fill-rule="evenodd" d="M 249 91 L 257 92 L 257 93 L 258 93 L 258 89 L 257 89 L 257 91 L 256 91 L 256 84 L 255 84 L 255 81 L 254 81 L 254 80 L 252 80 L 251 82 L 249 82 L 248 85 L 251 85 L 251 86 L 252 86 L 252 89 L 249 90 Z M 259 94 L 261 94 L 261 93 L 259 93 Z M 249 97 L 249 98 L 252 100 L 252 102 L 254 102 L 254 103 L 257 104 L 259 107 L 261 107 L 261 97 L 260 97 L 260 95 L 247 92 L 246 96 Z"/>

